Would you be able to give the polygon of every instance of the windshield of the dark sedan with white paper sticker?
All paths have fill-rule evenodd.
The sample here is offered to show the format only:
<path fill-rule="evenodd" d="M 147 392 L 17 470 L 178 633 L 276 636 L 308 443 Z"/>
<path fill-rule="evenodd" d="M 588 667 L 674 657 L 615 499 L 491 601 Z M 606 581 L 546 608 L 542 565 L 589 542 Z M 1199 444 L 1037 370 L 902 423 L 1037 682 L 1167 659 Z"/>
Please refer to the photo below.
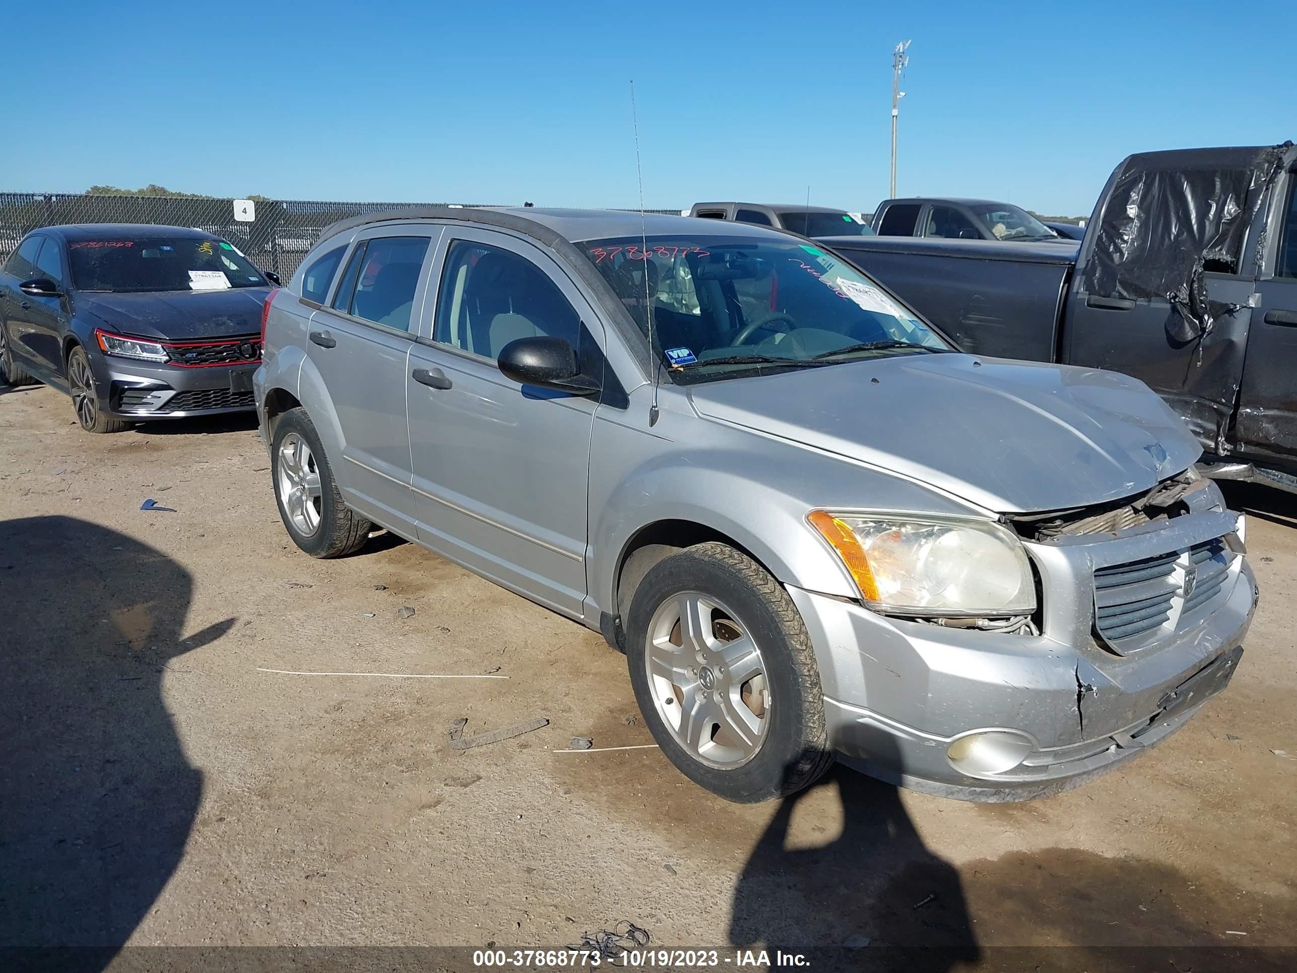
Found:
<path fill-rule="evenodd" d="M 266 287 L 248 258 L 215 237 L 127 237 L 67 244 L 79 291 L 226 291 Z"/>

